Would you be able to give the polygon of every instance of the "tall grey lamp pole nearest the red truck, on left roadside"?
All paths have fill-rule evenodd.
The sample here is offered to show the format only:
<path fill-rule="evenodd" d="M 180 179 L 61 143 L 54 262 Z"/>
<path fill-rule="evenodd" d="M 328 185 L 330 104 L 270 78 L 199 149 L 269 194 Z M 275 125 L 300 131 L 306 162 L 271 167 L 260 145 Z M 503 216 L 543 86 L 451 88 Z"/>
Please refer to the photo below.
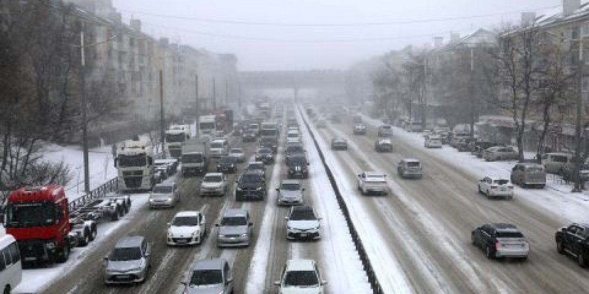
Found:
<path fill-rule="evenodd" d="M 84 193 L 90 193 L 90 166 L 88 161 L 88 119 L 86 103 L 86 56 L 84 52 L 84 29 L 85 24 L 82 22 L 80 28 L 80 100 L 82 103 L 82 153 L 84 153 Z"/>

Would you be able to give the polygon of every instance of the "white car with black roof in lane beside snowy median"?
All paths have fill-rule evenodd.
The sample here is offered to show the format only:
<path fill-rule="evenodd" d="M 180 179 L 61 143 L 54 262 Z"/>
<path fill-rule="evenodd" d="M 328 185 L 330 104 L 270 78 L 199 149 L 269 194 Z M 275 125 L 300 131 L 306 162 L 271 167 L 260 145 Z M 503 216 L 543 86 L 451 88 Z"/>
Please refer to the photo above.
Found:
<path fill-rule="evenodd" d="M 292 206 L 286 219 L 286 239 L 321 239 L 319 223 L 315 209 L 310 206 Z"/>

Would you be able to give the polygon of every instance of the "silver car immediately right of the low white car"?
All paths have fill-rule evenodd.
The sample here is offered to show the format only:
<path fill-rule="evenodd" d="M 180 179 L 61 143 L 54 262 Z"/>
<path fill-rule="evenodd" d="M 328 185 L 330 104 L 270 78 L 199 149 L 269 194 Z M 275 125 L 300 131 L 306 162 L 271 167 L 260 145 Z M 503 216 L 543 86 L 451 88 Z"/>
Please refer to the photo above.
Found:
<path fill-rule="evenodd" d="M 252 238 L 253 222 L 246 209 L 234 208 L 223 212 L 221 222 L 216 223 L 217 246 L 249 246 Z"/>

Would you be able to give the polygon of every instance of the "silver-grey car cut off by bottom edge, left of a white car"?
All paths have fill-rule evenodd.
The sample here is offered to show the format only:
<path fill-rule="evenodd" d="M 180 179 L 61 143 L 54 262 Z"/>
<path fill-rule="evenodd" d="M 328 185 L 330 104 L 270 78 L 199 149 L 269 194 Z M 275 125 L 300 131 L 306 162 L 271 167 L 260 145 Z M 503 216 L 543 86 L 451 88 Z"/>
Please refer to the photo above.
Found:
<path fill-rule="evenodd" d="M 194 263 L 183 281 L 186 294 L 233 293 L 233 273 L 223 258 L 202 259 Z"/>

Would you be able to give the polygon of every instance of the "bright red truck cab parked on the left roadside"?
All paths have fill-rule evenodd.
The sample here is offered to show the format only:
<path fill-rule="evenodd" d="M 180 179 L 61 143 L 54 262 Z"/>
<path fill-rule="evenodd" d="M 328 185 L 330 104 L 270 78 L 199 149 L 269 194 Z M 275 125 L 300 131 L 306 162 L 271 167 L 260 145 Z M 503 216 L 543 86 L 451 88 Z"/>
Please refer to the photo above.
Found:
<path fill-rule="evenodd" d="M 70 256 L 70 216 L 64 188 L 20 188 L 6 199 L 6 233 L 14 236 L 23 262 L 65 262 Z"/>

